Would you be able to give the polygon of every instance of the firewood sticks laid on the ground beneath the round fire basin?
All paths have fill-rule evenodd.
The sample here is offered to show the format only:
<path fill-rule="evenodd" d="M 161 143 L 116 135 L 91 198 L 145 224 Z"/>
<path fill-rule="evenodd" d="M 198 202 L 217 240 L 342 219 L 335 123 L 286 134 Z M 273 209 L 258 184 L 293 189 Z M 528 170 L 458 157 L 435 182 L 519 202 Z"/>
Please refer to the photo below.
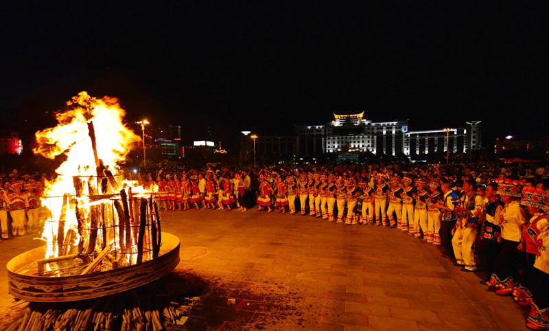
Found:
<path fill-rule="evenodd" d="M 5 330 L 173 330 L 200 297 L 173 297 L 158 284 L 85 301 L 30 302 Z"/>

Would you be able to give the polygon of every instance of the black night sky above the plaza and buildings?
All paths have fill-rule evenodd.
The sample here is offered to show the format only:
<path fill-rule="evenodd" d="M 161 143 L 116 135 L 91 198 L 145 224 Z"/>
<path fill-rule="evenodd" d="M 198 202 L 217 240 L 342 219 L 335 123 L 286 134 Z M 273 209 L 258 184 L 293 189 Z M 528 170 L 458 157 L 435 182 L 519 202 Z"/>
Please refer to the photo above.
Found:
<path fill-rule="evenodd" d="M 187 139 L 363 110 L 412 130 L 480 119 L 484 146 L 546 135 L 548 1 L 111 2 L 3 5 L 0 109 L 88 91 Z"/>

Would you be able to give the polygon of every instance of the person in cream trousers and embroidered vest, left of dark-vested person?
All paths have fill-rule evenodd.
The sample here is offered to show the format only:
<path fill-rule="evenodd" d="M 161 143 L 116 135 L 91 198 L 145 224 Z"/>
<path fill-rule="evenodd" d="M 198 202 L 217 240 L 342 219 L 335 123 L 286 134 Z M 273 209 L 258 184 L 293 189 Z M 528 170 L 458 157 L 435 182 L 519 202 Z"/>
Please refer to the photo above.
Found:
<path fill-rule="evenodd" d="M 465 196 L 458 207 L 461 218 L 458 220 L 452 245 L 456 263 L 463 265 L 462 271 L 476 271 L 473 246 L 478 234 L 478 226 L 484 215 L 484 200 L 476 193 L 476 182 L 467 179 L 463 182 Z"/>

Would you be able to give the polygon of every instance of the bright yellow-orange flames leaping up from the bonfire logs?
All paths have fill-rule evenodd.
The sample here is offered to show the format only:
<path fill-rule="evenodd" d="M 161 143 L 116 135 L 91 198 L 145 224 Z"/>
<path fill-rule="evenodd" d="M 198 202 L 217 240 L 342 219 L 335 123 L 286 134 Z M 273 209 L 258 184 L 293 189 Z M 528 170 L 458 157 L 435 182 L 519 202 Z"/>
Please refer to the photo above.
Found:
<path fill-rule="evenodd" d="M 54 198 L 64 194 L 73 194 L 73 176 L 96 176 L 96 158 L 89 135 L 89 123 L 95 128 L 97 159 L 102 160 L 105 168 L 113 173 L 117 164 L 124 161 L 131 148 L 141 141 L 138 135 L 127 128 L 122 119 L 126 112 L 121 109 L 116 98 L 93 98 L 82 91 L 67 102 L 67 110 L 56 114 L 58 125 L 36 133 L 38 146 L 34 153 L 54 159 L 58 155 L 67 157 L 56 170 L 57 176 L 46 183 L 44 205 L 51 210 L 51 219 L 65 219 L 65 233 L 76 229 L 77 220 L 74 210 L 65 204 L 63 198 Z M 89 192 L 87 192 L 89 193 Z M 95 194 L 98 194 L 97 192 Z M 63 209 L 66 209 L 66 213 Z M 66 214 L 66 216 L 65 216 Z M 51 236 L 57 233 L 56 222 L 47 222 L 43 238 L 53 241 Z M 55 248 L 47 253 L 47 258 L 55 255 Z"/>

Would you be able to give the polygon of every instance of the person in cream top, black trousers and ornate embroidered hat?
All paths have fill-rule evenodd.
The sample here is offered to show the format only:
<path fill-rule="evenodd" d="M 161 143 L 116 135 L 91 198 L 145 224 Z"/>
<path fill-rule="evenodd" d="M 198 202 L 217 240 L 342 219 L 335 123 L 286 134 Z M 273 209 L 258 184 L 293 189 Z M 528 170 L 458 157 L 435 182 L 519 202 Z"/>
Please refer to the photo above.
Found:
<path fill-rule="evenodd" d="M 498 179 L 498 193 L 505 203 L 500 214 L 502 228 L 502 249 L 495 258 L 489 286 L 495 286 L 498 295 L 509 295 L 519 282 L 519 266 L 522 262 L 521 252 L 517 249 L 522 240 L 522 229 L 528 220 L 526 211 L 520 206 L 522 183 Z"/>

